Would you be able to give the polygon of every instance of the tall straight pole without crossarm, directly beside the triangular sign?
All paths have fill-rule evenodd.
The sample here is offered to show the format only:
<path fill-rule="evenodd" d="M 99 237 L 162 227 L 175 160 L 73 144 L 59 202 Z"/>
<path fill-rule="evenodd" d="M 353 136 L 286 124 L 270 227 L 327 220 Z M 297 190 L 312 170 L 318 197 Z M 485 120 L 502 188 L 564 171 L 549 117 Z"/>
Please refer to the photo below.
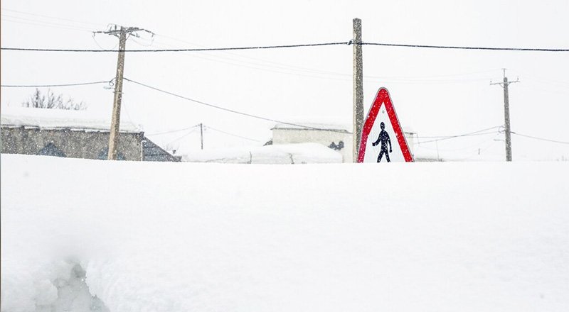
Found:
<path fill-rule="evenodd" d="M 353 18 L 353 162 L 358 162 L 361 128 L 363 128 L 363 55 L 361 53 L 361 19 Z"/>

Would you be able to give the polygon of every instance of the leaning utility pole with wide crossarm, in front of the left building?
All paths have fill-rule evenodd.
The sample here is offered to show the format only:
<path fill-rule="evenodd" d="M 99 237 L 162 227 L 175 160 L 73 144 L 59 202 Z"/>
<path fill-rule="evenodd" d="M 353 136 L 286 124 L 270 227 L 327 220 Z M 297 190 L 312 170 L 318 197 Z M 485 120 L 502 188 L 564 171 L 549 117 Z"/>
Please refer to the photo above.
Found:
<path fill-rule="evenodd" d="M 111 117 L 111 129 L 109 135 L 109 153 L 107 155 L 107 160 L 117 160 L 117 147 L 119 145 L 119 128 L 120 128 L 120 105 L 122 101 L 122 78 L 124 76 L 124 50 L 127 46 L 127 35 L 134 35 L 134 37 L 139 37 L 135 34 L 136 31 L 146 31 L 151 33 L 149 30 L 145 30 L 137 27 L 122 27 L 109 28 L 105 31 L 94 31 L 93 36 L 96 33 L 105 33 L 107 35 L 114 35 L 119 38 L 119 58 L 117 60 L 117 76 L 115 77 L 115 99 L 112 104 L 112 117 Z M 154 35 L 154 33 L 151 33 Z"/>

